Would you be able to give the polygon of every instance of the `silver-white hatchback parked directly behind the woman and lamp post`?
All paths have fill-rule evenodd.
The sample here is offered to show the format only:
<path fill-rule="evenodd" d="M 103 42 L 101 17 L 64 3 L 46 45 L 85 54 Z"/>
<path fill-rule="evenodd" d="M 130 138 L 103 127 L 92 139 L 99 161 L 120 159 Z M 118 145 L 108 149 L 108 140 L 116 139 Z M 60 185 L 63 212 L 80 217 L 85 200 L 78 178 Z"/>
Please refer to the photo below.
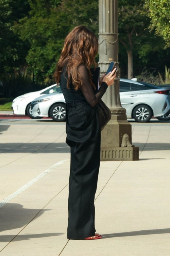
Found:
<path fill-rule="evenodd" d="M 60 87 L 58 87 L 60 88 Z M 60 89 L 61 90 L 61 89 Z M 170 110 L 170 90 L 148 83 L 120 79 L 120 100 L 127 118 L 149 122 L 152 116 L 163 116 Z M 65 99 L 61 92 L 38 97 L 32 102 L 31 113 L 65 121 Z"/>

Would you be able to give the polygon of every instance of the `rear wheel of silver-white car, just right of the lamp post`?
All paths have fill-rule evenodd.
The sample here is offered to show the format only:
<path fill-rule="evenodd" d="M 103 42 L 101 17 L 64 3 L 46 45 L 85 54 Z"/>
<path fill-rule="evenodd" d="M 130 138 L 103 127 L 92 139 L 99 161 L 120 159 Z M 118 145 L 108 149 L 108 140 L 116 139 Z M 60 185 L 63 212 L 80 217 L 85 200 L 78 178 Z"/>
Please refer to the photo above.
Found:
<path fill-rule="evenodd" d="M 152 110 L 149 106 L 145 104 L 138 105 L 133 110 L 133 118 L 135 119 L 136 122 L 146 123 L 146 122 L 149 122 L 151 117 L 152 117 Z"/>

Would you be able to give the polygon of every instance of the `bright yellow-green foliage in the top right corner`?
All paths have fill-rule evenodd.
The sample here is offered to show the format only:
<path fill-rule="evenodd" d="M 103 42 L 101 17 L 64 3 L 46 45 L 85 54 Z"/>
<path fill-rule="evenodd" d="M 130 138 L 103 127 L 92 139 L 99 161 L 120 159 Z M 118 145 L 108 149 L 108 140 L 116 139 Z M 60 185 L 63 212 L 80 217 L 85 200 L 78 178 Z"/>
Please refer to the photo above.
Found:
<path fill-rule="evenodd" d="M 170 2 L 169 0 L 145 0 L 145 9 L 151 19 L 149 28 L 163 37 L 170 47 Z"/>

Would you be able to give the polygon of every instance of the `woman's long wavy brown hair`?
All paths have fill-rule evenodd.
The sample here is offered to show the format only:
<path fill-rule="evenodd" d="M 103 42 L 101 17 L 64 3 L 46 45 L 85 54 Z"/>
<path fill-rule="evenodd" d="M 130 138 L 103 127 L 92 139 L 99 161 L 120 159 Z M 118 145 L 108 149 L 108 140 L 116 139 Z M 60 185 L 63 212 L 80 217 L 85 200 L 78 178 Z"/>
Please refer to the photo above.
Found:
<path fill-rule="evenodd" d="M 90 67 L 92 64 L 95 68 L 98 66 L 95 61 L 95 56 L 98 53 L 98 47 L 98 38 L 90 29 L 85 26 L 77 26 L 73 28 L 65 39 L 64 47 L 56 65 L 56 71 L 53 75 L 57 87 L 60 83 L 63 68 L 67 64 L 67 88 L 69 88 L 71 81 L 74 89 L 78 90 L 82 85 L 78 66 L 83 63 L 89 71 L 91 85 L 95 88 L 95 85 L 92 83 Z"/>

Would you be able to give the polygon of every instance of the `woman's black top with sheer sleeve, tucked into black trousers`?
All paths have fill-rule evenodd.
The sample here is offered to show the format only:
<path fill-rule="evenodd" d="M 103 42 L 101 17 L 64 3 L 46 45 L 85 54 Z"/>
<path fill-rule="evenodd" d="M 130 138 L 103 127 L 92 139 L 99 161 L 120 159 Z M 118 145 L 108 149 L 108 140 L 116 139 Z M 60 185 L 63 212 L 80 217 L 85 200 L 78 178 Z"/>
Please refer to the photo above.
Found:
<path fill-rule="evenodd" d="M 70 89 L 66 87 L 68 74 L 66 73 L 66 66 L 61 74 L 60 87 L 64 95 L 66 102 L 82 101 L 86 100 L 91 106 L 95 106 L 102 98 L 108 87 L 107 83 L 102 82 L 99 90 L 94 92 L 94 87 L 90 83 L 90 77 L 88 69 L 84 64 L 78 67 L 78 71 L 81 75 L 83 85 L 78 90 L 74 89 L 73 84 L 70 82 Z"/>

